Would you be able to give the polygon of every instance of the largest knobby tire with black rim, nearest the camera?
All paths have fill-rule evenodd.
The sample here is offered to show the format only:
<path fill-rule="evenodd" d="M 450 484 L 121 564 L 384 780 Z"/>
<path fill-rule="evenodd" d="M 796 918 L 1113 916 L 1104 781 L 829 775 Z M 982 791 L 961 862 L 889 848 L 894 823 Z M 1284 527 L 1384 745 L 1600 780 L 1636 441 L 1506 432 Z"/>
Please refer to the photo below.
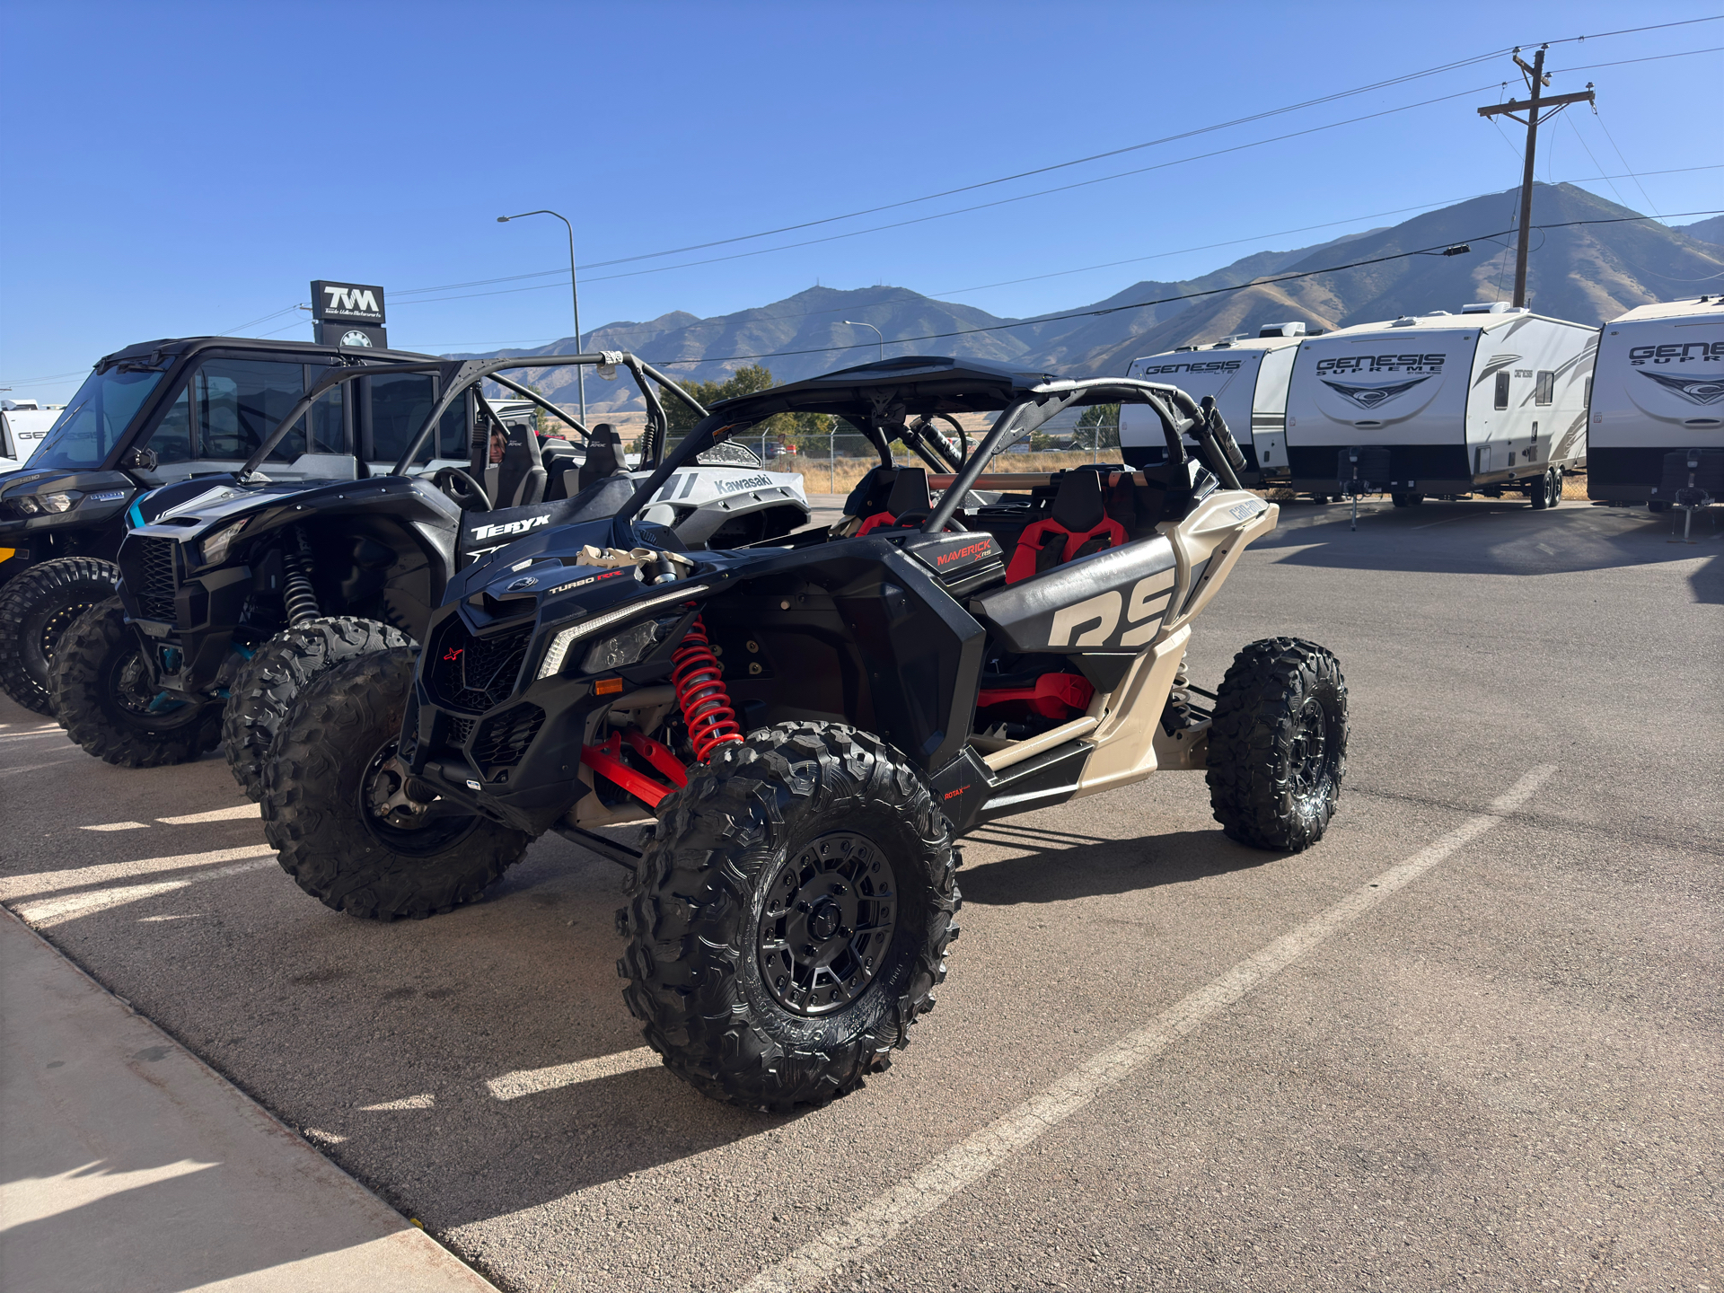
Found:
<path fill-rule="evenodd" d="M 757 731 L 659 807 L 617 912 L 624 1000 L 703 1095 L 826 1103 L 884 1071 L 933 1007 L 957 862 L 928 784 L 879 738 Z"/>

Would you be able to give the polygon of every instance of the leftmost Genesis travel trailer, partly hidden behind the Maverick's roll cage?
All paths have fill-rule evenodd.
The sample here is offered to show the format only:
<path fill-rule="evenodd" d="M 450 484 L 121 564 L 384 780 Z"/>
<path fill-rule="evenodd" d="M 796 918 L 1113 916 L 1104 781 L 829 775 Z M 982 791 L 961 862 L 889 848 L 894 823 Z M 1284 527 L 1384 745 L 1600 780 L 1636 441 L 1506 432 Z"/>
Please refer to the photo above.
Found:
<path fill-rule="evenodd" d="M 1307 336 L 1303 322 L 1271 324 L 1257 336 L 1224 336 L 1207 347 L 1179 347 L 1131 360 L 1127 378 L 1165 381 L 1193 400 L 1215 397 L 1221 417 L 1245 452 L 1241 483 L 1286 476 L 1288 378 L 1293 355 Z M 1159 465 L 1167 455 L 1162 424 L 1145 403 L 1119 410 L 1119 447 L 1131 467 Z"/>

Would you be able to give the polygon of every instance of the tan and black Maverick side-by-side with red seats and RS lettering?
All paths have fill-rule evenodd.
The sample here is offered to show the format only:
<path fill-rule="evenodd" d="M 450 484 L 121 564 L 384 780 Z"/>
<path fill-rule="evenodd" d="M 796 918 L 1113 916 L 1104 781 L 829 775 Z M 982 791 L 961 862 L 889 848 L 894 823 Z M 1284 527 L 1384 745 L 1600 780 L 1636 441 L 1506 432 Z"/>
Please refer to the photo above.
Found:
<path fill-rule="evenodd" d="M 1160 419 L 1164 465 L 981 474 L 1060 410 L 1121 400 Z M 881 453 L 843 522 L 700 553 L 634 524 L 683 462 L 803 410 Z M 891 438 L 983 410 L 955 474 L 891 465 Z M 265 833 L 303 890 L 388 919 L 478 898 L 559 831 L 631 871 L 619 971 L 671 1069 L 748 1107 L 843 1095 L 933 1005 L 974 826 L 1207 767 L 1234 840 L 1322 836 L 1334 657 L 1257 641 L 1212 696 L 1183 672 L 1193 617 L 1276 524 L 1240 460 L 1210 402 L 1134 379 L 905 357 L 726 400 L 614 519 L 459 574 L 417 662 L 307 688 Z M 976 486 L 1007 493 L 960 510 Z M 598 833 L 629 822 L 652 822 L 645 853 Z"/>

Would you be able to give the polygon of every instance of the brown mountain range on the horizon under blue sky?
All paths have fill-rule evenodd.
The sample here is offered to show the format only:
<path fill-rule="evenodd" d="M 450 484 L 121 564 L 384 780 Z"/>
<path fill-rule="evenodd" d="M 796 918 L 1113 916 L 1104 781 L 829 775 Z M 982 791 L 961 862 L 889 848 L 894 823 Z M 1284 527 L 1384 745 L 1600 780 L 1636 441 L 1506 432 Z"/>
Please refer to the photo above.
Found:
<path fill-rule="evenodd" d="M 586 345 L 633 350 L 690 381 L 721 381 L 746 364 L 765 364 L 783 383 L 874 359 L 874 333 L 843 324 L 859 319 L 879 328 L 888 353 L 965 355 L 1064 376 L 1122 374 L 1138 355 L 1255 333 L 1272 322 L 1345 328 L 1508 300 L 1517 193 L 1472 198 L 1314 247 L 1257 252 L 1195 279 L 1143 279 L 1105 300 L 1028 319 L 1002 319 L 909 288 L 817 286 L 710 319 L 676 310 L 650 322 L 610 322 L 588 333 Z M 1534 184 L 1533 224 L 1546 228 L 1533 243 L 1527 303 L 1540 314 L 1600 324 L 1634 305 L 1719 283 L 1724 217 L 1674 229 L 1638 216 L 1574 184 Z M 1471 250 L 1441 253 L 1460 243 Z M 1300 278 L 1283 278 L 1290 274 Z M 1265 278 L 1283 281 L 1260 281 Z M 486 357 L 574 352 L 574 338 L 564 338 Z M 543 372 L 536 384 L 559 403 L 574 398 L 572 369 Z M 607 384 L 588 376 L 586 398 L 595 415 L 640 410 L 626 379 Z"/>

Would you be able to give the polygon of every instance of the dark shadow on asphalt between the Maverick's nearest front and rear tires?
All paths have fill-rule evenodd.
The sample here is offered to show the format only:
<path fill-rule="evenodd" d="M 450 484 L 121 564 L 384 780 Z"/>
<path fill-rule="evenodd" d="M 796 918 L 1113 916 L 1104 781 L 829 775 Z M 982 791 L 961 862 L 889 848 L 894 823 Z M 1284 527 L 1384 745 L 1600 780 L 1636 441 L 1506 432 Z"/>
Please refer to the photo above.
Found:
<path fill-rule="evenodd" d="M 1136 893 L 1159 884 L 1184 884 L 1231 871 L 1250 871 L 1283 857 L 1236 845 L 1219 829 L 1079 845 L 1055 840 L 1048 846 L 1036 846 L 1021 833 L 1009 834 L 983 826 L 971 840 L 1029 850 L 959 872 L 964 902 L 983 907 Z"/>

